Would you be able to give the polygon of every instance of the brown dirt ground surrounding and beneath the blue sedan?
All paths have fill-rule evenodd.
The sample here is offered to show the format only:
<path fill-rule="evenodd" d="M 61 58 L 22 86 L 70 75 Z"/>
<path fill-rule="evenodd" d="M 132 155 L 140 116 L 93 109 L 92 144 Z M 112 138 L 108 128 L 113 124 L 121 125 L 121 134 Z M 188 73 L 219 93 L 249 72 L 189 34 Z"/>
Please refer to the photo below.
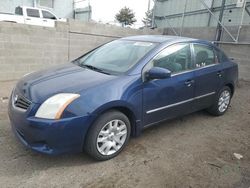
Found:
<path fill-rule="evenodd" d="M 0 82 L 0 98 L 13 84 Z M 250 82 L 240 82 L 224 116 L 202 111 L 151 127 L 106 162 L 25 149 L 11 132 L 7 100 L 0 99 L 0 187 L 249 188 Z"/>

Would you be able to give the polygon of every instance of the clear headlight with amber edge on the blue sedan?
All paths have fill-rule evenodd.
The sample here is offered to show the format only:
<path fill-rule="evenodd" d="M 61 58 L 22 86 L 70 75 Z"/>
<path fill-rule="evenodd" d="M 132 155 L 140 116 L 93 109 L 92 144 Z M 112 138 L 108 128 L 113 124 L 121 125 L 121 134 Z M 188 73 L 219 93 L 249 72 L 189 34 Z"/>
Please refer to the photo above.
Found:
<path fill-rule="evenodd" d="M 65 108 L 80 97 L 73 93 L 59 93 L 48 98 L 38 109 L 35 117 L 45 119 L 60 119 Z"/>

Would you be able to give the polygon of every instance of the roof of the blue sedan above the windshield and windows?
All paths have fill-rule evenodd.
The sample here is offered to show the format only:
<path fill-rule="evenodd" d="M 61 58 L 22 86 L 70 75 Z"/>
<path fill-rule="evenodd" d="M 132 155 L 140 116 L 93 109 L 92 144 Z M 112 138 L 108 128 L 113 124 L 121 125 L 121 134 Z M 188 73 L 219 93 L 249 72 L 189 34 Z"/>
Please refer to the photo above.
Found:
<path fill-rule="evenodd" d="M 197 39 L 171 36 L 171 35 L 138 35 L 122 38 L 122 40 L 133 40 L 133 41 L 143 41 L 143 42 L 153 42 L 153 43 L 167 43 L 175 41 L 198 41 Z"/>

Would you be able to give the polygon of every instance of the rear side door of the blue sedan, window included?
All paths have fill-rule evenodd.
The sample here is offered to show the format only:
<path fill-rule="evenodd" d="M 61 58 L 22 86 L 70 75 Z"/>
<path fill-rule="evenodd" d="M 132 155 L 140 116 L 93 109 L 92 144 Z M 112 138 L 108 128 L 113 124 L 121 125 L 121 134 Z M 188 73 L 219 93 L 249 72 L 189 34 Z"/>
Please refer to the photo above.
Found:
<path fill-rule="evenodd" d="M 194 43 L 192 51 L 195 59 L 194 105 L 200 110 L 212 105 L 216 93 L 222 87 L 224 71 L 212 46 Z"/>

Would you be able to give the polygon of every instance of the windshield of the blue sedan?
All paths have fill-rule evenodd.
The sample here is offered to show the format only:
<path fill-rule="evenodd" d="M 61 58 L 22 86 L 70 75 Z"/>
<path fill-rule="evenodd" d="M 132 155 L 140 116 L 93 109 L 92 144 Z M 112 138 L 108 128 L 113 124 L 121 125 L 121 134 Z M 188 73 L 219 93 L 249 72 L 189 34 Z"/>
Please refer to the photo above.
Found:
<path fill-rule="evenodd" d="M 103 73 L 125 73 L 155 46 L 151 42 L 116 40 L 76 59 L 74 63 Z"/>

